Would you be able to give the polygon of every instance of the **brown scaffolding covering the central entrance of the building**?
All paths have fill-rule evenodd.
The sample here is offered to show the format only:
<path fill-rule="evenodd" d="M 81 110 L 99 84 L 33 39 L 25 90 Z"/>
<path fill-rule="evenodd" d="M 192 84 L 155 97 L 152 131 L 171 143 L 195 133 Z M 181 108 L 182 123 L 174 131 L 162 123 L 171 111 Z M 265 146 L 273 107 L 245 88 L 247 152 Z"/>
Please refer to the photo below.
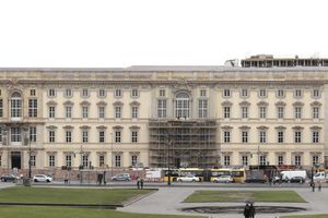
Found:
<path fill-rule="evenodd" d="M 219 165 L 215 120 L 151 120 L 150 166 L 212 168 Z"/>

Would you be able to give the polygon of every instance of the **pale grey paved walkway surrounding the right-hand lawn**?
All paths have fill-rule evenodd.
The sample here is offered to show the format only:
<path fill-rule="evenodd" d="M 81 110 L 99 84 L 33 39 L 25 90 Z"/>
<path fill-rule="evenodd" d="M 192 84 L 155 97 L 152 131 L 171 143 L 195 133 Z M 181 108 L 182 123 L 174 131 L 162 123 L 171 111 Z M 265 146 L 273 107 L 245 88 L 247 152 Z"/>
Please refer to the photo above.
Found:
<path fill-rule="evenodd" d="M 127 207 L 119 208 L 121 211 L 140 213 L 140 214 L 163 214 L 163 215 L 191 215 L 191 213 L 184 213 L 179 209 L 183 207 L 194 206 L 244 206 L 244 203 L 183 203 L 183 201 L 196 190 L 218 190 L 213 187 L 160 187 L 159 192 L 140 199 Z M 222 189 L 220 189 L 222 190 Z M 269 190 L 268 189 L 234 189 L 234 190 Z M 277 189 L 274 189 L 277 190 Z M 296 214 L 328 214 L 328 190 L 324 189 L 321 192 L 312 192 L 311 189 L 280 189 L 293 190 L 297 192 L 308 203 L 255 203 L 256 206 L 295 206 L 303 207 L 307 210 L 292 214 L 260 214 L 257 217 L 276 218 L 282 215 Z M 222 217 L 222 218 L 238 218 L 244 217 L 242 214 L 192 214 L 204 217 Z"/>

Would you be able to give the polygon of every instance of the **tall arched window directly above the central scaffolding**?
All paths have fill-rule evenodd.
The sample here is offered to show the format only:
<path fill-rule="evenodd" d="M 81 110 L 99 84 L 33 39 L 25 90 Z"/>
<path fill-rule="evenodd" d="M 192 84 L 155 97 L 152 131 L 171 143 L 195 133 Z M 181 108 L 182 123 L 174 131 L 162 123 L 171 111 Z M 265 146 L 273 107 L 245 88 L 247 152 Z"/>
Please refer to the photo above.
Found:
<path fill-rule="evenodd" d="M 189 118 L 190 98 L 187 93 L 179 93 L 175 98 L 175 117 Z"/>

